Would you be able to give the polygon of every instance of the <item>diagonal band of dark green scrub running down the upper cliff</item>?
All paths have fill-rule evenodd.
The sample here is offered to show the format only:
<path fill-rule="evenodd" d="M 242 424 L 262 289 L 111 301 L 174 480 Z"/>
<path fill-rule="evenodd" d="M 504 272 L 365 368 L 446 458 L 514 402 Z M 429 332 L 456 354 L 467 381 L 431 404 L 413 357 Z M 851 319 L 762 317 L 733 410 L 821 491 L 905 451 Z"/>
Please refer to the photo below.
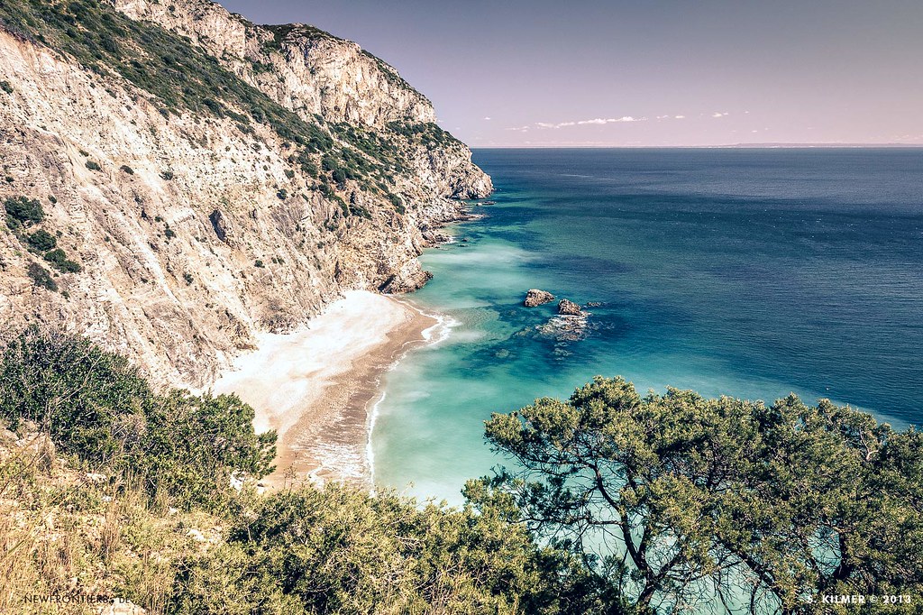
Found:
<path fill-rule="evenodd" d="M 297 115 L 185 37 L 148 21 L 127 18 L 101 0 L 9 0 L 0 4 L 0 27 L 66 54 L 101 76 L 124 78 L 148 92 L 165 117 L 192 112 L 229 118 L 246 134 L 254 133 L 254 123 L 270 127 L 294 150 L 287 154 L 293 167 L 309 178 L 309 184 L 316 179 L 320 189 L 342 191 L 349 180 L 380 196 L 382 203 L 393 202 L 398 198 L 393 194 L 397 189 L 393 176 L 406 174 L 410 168 L 407 156 L 413 150 L 408 151 L 408 145 L 461 146 L 435 124 L 391 122 L 374 131 L 330 124 L 319 115 Z M 293 33 L 335 38 L 309 26 L 265 28 L 274 36 L 264 49 L 266 54 L 277 51 Z M 411 90 L 389 66 L 375 59 L 386 78 Z M 328 162 L 323 164 L 325 173 L 318 174 L 321 160 Z M 101 170 L 93 161 L 85 164 L 90 170 Z M 350 208 L 344 211 L 362 215 Z"/>

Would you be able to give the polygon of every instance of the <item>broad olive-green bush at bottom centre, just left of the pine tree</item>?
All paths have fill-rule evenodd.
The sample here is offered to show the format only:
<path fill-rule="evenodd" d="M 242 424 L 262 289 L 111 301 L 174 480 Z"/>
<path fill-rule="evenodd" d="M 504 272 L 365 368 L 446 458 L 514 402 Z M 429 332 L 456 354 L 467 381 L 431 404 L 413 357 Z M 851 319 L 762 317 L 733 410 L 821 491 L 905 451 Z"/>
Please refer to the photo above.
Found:
<path fill-rule="evenodd" d="M 262 498 L 226 544 L 181 566 L 177 612 L 226 604 L 240 613 L 269 612 L 268 604 L 279 613 L 544 611 L 533 595 L 553 558 L 523 527 L 415 503 L 343 486 Z"/>

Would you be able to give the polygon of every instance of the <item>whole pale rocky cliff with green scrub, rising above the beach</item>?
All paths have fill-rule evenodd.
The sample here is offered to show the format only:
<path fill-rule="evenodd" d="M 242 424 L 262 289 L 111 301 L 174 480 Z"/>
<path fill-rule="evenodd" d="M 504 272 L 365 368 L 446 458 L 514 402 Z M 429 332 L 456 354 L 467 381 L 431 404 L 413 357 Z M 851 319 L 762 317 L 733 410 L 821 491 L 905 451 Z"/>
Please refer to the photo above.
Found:
<path fill-rule="evenodd" d="M 344 289 L 411 290 L 426 230 L 491 190 L 434 117 L 308 26 L 205 0 L 5 2 L 0 322 L 64 323 L 201 386 Z"/>

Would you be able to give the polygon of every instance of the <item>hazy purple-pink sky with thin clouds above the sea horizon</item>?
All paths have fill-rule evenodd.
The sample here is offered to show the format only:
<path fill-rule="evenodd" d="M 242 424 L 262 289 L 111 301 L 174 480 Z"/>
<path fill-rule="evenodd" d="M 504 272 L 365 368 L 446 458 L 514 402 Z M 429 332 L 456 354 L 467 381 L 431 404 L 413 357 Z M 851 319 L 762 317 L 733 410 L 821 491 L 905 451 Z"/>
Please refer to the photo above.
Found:
<path fill-rule="evenodd" d="M 472 147 L 923 145 L 923 0 L 220 0 L 359 43 Z"/>

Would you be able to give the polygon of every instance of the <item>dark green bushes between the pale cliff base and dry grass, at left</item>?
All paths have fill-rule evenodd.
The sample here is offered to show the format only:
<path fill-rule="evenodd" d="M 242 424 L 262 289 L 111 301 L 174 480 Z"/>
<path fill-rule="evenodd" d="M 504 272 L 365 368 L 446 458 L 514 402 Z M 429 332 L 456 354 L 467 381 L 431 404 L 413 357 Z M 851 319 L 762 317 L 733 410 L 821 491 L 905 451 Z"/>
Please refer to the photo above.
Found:
<path fill-rule="evenodd" d="M 32 327 L 0 356 L 0 418 L 32 421 L 64 452 L 107 473 L 134 473 L 151 495 L 215 504 L 234 471 L 270 473 L 275 433 L 256 434 L 235 395 L 156 394 L 123 356 Z"/>

